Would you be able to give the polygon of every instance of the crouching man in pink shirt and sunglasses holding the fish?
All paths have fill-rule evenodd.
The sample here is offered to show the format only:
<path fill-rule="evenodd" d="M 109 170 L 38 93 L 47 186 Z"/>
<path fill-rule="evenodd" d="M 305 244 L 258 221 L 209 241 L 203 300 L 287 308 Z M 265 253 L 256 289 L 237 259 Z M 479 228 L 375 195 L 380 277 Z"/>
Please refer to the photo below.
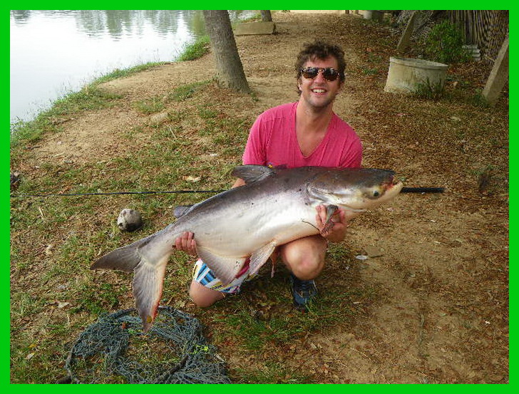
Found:
<path fill-rule="evenodd" d="M 336 95 L 344 84 L 344 52 L 322 41 L 306 44 L 297 57 L 299 101 L 271 108 L 255 121 L 250 130 L 243 164 L 273 167 L 360 167 L 362 147 L 354 130 L 333 112 Z M 244 185 L 236 180 L 233 187 Z M 317 207 L 317 227 L 322 229 L 326 209 Z M 346 234 L 346 218 L 339 209 L 334 226 L 328 232 L 296 239 L 273 254 L 281 256 L 291 271 L 294 306 L 307 310 L 317 295 L 314 279 L 324 266 L 328 241 L 340 242 Z M 195 234 L 196 237 L 196 234 Z M 186 232 L 176 240 L 177 249 L 196 254 L 193 234 Z M 225 294 L 237 293 L 243 281 L 250 279 L 248 265 L 227 286 L 215 279 L 210 269 L 198 260 L 190 286 L 197 306 L 210 306 Z"/>

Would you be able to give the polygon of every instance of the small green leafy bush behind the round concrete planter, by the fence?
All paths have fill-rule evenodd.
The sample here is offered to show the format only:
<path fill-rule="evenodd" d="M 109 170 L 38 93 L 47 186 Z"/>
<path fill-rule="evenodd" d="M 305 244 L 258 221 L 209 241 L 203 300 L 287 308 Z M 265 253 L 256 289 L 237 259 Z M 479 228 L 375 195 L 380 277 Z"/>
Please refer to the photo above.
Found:
<path fill-rule="evenodd" d="M 426 38 L 426 55 L 440 63 L 461 63 L 471 60 L 463 48 L 463 36 L 456 25 L 443 21 L 434 26 Z"/>

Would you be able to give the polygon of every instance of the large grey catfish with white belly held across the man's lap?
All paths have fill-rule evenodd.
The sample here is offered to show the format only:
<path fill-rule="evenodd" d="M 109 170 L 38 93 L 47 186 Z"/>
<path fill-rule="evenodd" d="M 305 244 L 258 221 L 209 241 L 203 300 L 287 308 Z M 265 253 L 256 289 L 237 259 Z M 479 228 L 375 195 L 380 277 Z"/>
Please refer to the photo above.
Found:
<path fill-rule="evenodd" d="M 215 195 L 192 207 L 165 229 L 115 249 L 92 269 L 133 271 L 133 295 L 144 331 L 157 313 L 166 264 L 183 232 L 194 234 L 197 254 L 218 279 L 232 281 L 250 257 L 254 274 L 274 248 L 319 234 L 317 205 L 327 207 L 328 224 L 340 207 L 351 219 L 399 194 L 394 172 L 372 168 L 299 167 L 273 169 L 236 167 L 232 175 L 246 184 Z"/>

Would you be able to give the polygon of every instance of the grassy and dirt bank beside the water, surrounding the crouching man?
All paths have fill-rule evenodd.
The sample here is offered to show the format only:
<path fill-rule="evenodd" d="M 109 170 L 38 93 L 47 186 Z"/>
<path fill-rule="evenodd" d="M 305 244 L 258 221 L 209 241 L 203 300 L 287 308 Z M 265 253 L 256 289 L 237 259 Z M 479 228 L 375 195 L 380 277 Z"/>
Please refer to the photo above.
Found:
<path fill-rule="evenodd" d="M 364 167 L 446 193 L 402 195 L 356 219 L 327 256 L 312 313 L 293 311 L 286 271 L 269 279 L 270 267 L 240 296 L 200 311 L 182 254 L 168 264 L 162 304 L 200 318 L 235 383 L 506 383 L 508 98 L 475 104 L 488 75 L 477 63 L 451 66 L 439 101 L 384 93 L 399 39 L 389 28 L 354 16 L 273 18 L 276 35 L 237 37 L 252 95 L 215 83 L 211 53 L 102 83 L 82 93 L 97 106 L 79 96 L 11 149 L 17 192 L 229 187 L 257 115 L 297 100 L 301 44 L 329 39 L 348 65 L 334 108 L 363 140 Z M 11 382 L 53 383 L 88 324 L 133 306 L 131 275 L 91 271 L 96 257 L 205 197 L 12 198 Z M 143 213 L 135 234 L 115 224 L 126 207 Z M 367 247 L 382 255 L 355 259 Z"/>

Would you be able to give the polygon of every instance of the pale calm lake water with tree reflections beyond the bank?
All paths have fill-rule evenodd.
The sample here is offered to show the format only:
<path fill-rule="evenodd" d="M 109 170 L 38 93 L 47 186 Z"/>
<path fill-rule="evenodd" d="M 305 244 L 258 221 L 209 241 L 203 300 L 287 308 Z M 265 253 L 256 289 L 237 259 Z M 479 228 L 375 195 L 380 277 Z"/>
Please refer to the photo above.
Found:
<path fill-rule="evenodd" d="M 230 11 L 231 21 L 258 11 Z M 11 122 L 116 68 L 173 61 L 205 34 L 200 10 L 11 10 Z"/>

